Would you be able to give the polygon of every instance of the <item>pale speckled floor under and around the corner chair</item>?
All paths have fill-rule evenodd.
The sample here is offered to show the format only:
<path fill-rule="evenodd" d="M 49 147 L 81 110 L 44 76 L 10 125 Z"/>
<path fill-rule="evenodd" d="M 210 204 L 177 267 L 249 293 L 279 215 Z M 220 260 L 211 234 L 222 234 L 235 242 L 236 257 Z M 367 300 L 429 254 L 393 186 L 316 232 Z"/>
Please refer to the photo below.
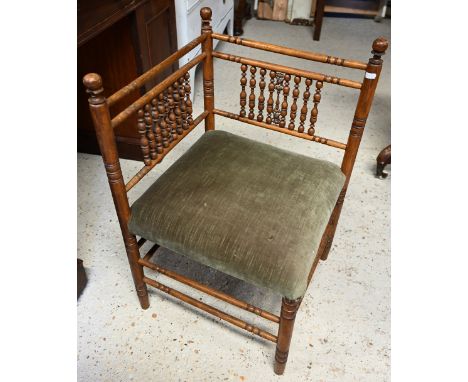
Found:
<path fill-rule="evenodd" d="M 244 37 L 367 60 L 372 40 L 390 37 L 390 22 L 326 18 L 320 42 L 309 27 L 252 19 Z M 360 80 L 362 72 L 327 67 L 263 51 L 220 44 L 218 49 Z M 361 144 L 329 260 L 321 263 L 297 315 L 283 377 L 273 373 L 274 345 L 151 290 L 151 306 L 140 308 L 100 157 L 78 155 L 78 257 L 89 283 L 78 302 L 79 381 L 388 381 L 390 379 L 390 181 L 374 177 L 375 157 L 390 143 L 390 54 Z M 216 62 L 218 108 L 236 111 L 238 64 Z M 195 86 L 194 115 L 201 110 L 201 76 Z M 346 140 L 357 93 L 323 89 L 317 134 Z M 339 162 L 338 150 L 261 128 L 217 118 L 217 128 L 272 145 Z M 135 200 L 201 134 L 198 127 L 135 189 Z M 126 179 L 141 164 L 122 161 Z M 131 201 L 132 201 L 131 200 Z M 239 298 L 279 310 L 280 296 L 202 267 L 169 251 L 158 252 L 169 268 Z M 183 285 L 157 276 L 192 294 Z M 199 294 L 195 294 L 198 296 Z M 208 303 L 273 330 L 203 296 Z"/>

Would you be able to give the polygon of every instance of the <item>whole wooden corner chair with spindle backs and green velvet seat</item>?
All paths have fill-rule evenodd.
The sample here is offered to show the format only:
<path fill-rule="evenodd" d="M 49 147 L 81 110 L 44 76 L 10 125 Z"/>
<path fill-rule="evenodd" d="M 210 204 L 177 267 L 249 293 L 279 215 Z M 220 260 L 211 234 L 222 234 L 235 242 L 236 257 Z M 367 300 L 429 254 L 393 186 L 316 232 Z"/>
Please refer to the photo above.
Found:
<path fill-rule="evenodd" d="M 331 248 L 388 43 L 376 39 L 373 55 L 365 63 L 214 33 L 211 10 L 203 8 L 200 14 L 199 37 L 110 97 L 105 96 L 98 74 L 87 74 L 83 82 L 141 307 L 149 307 L 150 285 L 272 341 L 276 343 L 274 370 L 282 374 L 302 297 L 319 260 L 325 260 Z M 221 53 L 213 50 L 213 40 L 361 70 L 363 80 Z M 128 101 L 119 113 L 111 113 L 116 103 L 200 44 L 201 54 Z M 214 59 L 239 64 L 238 112 L 215 108 Z M 203 63 L 204 110 L 193 116 L 189 71 L 199 63 Z M 346 143 L 316 134 L 322 89 L 335 86 L 359 94 Z M 135 116 L 144 166 L 125 184 L 115 131 Z M 341 167 L 215 130 L 215 116 L 342 150 Z M 130 207 L 127 193 L 202 121 L 206 131 L 202 137 Z M 222 123 L 222 118 L 216 123 Z M 141 256 L 139 248 L 146 241 L 154 244 Z M 159 246 L 280 294 L 281 311 L 267 312 L 157 265 L 150 260 Z M 277 323 L 278 333 L 161 284 L 144 268 Z"/>

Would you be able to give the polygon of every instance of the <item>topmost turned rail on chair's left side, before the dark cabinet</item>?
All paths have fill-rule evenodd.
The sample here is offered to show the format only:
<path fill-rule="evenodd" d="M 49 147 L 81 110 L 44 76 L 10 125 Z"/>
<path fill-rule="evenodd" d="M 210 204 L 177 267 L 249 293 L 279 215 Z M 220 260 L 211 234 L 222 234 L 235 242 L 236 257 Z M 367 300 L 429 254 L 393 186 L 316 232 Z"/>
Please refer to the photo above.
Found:
<path fill-rule="evenodd" d="M 163 70 L 171 66 L 176 60 L 185 56 L 188 52 L 190 52 L 191 50 L 196 48 L 198 45 L 200 45 L 206 39 L 206 37 L 207 37 L 206 35 L 202 34 L 198 36 L 197 38 L 193 39 L 187 45 L 184 45 L 182 48 L 180 48 L 179 50 L 171 54 L 165 60 L 161 61 L 159 64 L 153 66 L 150 70 L 143 73 L 140 77 L 133 80 L 127 86 L 123 87 L 122 89 L 112 94 L 107 99 L 107 103 L 109 104 L 109 106 L 116 103 L 118 100 L 122 99 L 127 94 L 133 92 L 135 89 L 142 87 L 145 83 L 147 83 L 148 81 L 153 79 L 155 76 L 157 76 L 159 73 L 161 73 Z"/>

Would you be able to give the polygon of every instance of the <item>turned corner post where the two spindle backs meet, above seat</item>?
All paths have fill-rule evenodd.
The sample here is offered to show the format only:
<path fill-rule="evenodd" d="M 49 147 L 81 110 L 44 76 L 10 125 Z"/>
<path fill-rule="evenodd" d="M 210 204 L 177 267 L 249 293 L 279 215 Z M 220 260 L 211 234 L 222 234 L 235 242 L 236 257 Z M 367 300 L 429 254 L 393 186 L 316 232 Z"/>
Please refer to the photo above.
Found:
<path fill-rule="evenodd" d="M 202 43 L 202 52 L 206 53 L 206 58 L 203 61 L 203 94 L 205 110 L 208 115 L 205 119 L 205 131 L 214 130 L 214 84 L 213 84 L 213 39 L 211 34 L 211 8 L 203 7 L 200 9 L 200 16 L 202 18 L 201 33 L 206 34 L 206 39 Z"/>

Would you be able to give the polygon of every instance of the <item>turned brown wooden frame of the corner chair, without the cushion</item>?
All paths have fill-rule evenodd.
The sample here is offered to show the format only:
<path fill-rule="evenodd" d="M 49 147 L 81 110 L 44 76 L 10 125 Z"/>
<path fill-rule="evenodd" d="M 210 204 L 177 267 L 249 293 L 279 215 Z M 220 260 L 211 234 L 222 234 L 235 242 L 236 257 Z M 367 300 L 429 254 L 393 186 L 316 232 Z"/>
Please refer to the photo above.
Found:
<path fill-rule="evenodd" d="M 84 79 L 84 85 L 87 88 L 87 93 L 89 94 L 89 108 L 91 111 L 93 123 L 96 129 L 96 135 L 98 138 L 99 146 L 101 149 L 101 154 L 104 161 L 105 170 L 107 173 L 110 189 L 112 192 L 112 197 L 114 199 L 115 208 L 117 211 L 117 216 L 120 223 L 120 228 L 122 231 L 123 240 L 125 242 L 125 248 L 128 256 L 128 261 L 130 263 L 130 269 L 132 272 L 133 280 L 135 283 L 136 292 L 140 300 L 141 307 L 147 309 L 149 307 L 149 299 L 147 292 L 147 285 L 153 286 L 173 297 L 176 297 L 180 300 L 187 302 L 205 312 L 208 312 L 216 317 L 219 317 L 223 320 L 230 322 L 231 324 L 245 329 L 257 336 L 265 338 L 269 341 L 275 342 L 276 345 L 276 354 L 275 354 L 275 365 L 274 371 L 276 374 L 282 374 L 284 372 L 286 361 L 288 357 L 289 346 L 291 342 L 294 319 L 296 312 L 300 306 L 299 300 L 288 300 L 286 298 L 282 299 L 281 312 L 278 315 L 262 310 L 256 306 L 252 306 L 244 301 L 238 300 L 232 296 L 229 296 L 223 292 L 212 289 L 208 286 L 198 283 L 195 280 L 189 279 L 188 277 L 179 275 L 175 272 L 172 272 L 168 269 L 165 269 L 161 266 L 158 266 L 150 262 L 150 258 L 158 249 L 158 244 L 153 245 L 153 247 L 146 253 L 143 257 L 140 256 L 139 248 L 146 241 L 144 238 L 140 238 L 137 241 L 135 235 L 133 235 L 128 229 L 128 221 L 130 218 L 130 205 L 127 197 L 127 193 L 162 159 L 167 155 L 172 148 L 177 145 L 187 134 L 190 133 L 201 121 L 205 121 L 205 130 L 214 130 L 215 128 L 215 115 L 219 115 L 226 118 L 235 119 L 246 124 L 251 124 L 255 126 L 264 127 L 274 131 L 278 131 L 284 134 L 289 134 L 299 138 L 319 142 L 328 146 L 332 146 L 341 150 L 344 150 L 344 156 L 341 163 L 341 170 L 346 176 L 346 181 L 339 195 L 336 206 L 333 210 L 329 223 L 326 227 L 326 230 L 322 236 L 322 240 L 317 252 L 317 256 L 313 262 L 313 265 L 309 273 L 309 282 L 312 278 L 312 275 L 315 271 L 315 268 L 320 259 L 326 260 L 330 247 L 333 241 L 335 234 L 336 226 L 340 216 L 340 212 L 343 206 L 343 201 L 345 198 L 346 190 L 348 188 L 349 180 L 354 166 L 354 161 L 358 152 L 359 144 L 361 142 L 361 137 L 364 131 L 366 124 L 367 116 L 370 111 L 371 103 L 374 97 L 374 92 L 377 86 L 377 82 L 380 76 L 382 69 L 382 59 L 381 56 L 385 53 L 387 49 L 388 42 L 384 38 L 378 38 L 374 41 L 373 47 L 373 56 L 369 59 L 368 63 L 353 61 L 348 59 L 342 59 L 337 57 L 332 57 L 324 54 L 318 54 L 313 52 L 306 52 L 297 49 L 291 49 L 286 47 L 281 47 L 273 44 L 267 44 L 262 42 L 257 42 L 248 39 L 241 39 L 238 37 L 227 36 L 223 34 L 213 33 L 211 28 L 211 9 L 203 8 L 200 12 L 202 18 L 202 27 L 201 35 L 195 40 L 179 49 L 177 52 L 172 54 L 170 57 L 162 61 L 160 64 L 154 66 L 152 69 L 138 77 L 129 85 L 125 86 L 121 90 L 117 91 L 109 98 L 106 99 L 103 95 L 103 84 L 101 77 L 98 74 L 90 73 L 87 74 Z M 364 79 L 362 82 L 351 81 L 348 79 L 338 78 L 334 76 L 328 76 L 320 73 L 315 73 L 306 70 L 300 70 L 295 68 L 286 67 L 283 65 L 277 65 L 267 62 L 262 62 L 254 59 L 229 55 L 226 53 L 221 53 L 213 51 L 213 39 L 218 39 L 225 41 L 227 43 L 234 43 L 238 45 L 243 45 L 246 47 L 261 49 L 269 51 L 272 53 L 279 53 L 283 55 L 299 57 L 310 61 L 327 63 L 330 65 L 344 66 L 348 68 L 353 68 L 357 70 L 365 71 Z M 194 49 L 196 46 L 201 44 L 202 53 L 192 59 L 190 62 L 176 70 L 170 76 L 168 76 L 164 81 L 154 86 L 152 89 L 143 94 L 139 99 L 129 105 L 125 110 L 120 112 L 118 115 L 111 118 L 109 107 L 116 103 L 118 100 L 122 99 L 126 94 L 134 91 L 135 89 L 141 89 L 148 81 L 153 79 L 164 69 L 170 67 L 176 60 L 187 54 L 189 51 Z M 239 114 L 233 114 L 227 111 L 215 109 L 214 107 L 214 84 L 213 84 L 213 58 L 234 61 L 241 63 L 242 70 L 242 79 L 241 79 L 241 112 Z M 191 118 L 191 101 L 189 99 L 190 95 L 190 86 L 187 85 L 187 82 L 184 83 L 184 78 L 187 79 L 187 73 L 190 68 L 194 67 L 198 63 L 203 62 L 203 90 L 204 90 L 204 111 L 195 119 Z M 252 79 L 250 80 L 250 86 L 252 88 L 251 96 L 249 96 L 249 115 L 246 115 L 245 106 L 247 106 L 247 97 L 245 92 L 245 85 L 247 84 L 246 71 L 247 66 L 251 66 Z M 261 81 L 261 97 L 258 99 L 258 108 L 259 116 L 254 118 L 253 108 L 255 106 L 255 95 L 252 94 L 253 87 L 255 86 L 255 71 L 256 68 L 260 69 Z M 253 69 L 252 69 L 253 68 Z M 316 91 L 312 97 L 314 102 L 314 108 L 311 109 L 311 128 L 307 133 L 304 132 L 304 122 L 307 115 L 307 106 L 306 102 L 310 97 L 304 95 L 304 105 L 303 109 L 300 110 L 300 125 L 299 128 L 295 129 L 294 119 L 296 117 L 297 107 L 297 86 L 295 86 L 292 95 L 293 95 L 293 104 L 291 106 L 291 123 L 289 126 L 286 126 L 286 113 L 287 113 L 287 102 L 286 97 L 289 93 L 289 86 L 283 86 L 282 90 L 284 95 L 284 101 L 281 103 L 281 112 L 278 114 L 278 124 L 272 123 L 271 120 L 271 111 L 273 109 L 273 104 L 270 102 L 270 99 L 267 102 L 267 112 L 268 115 L 266 120 L 263 119 L 262 111 L 264 110 L 264 101 L 265 98 L 263 91 L 266 88 L 266 82 L 264 81 L 264 75 L 266 70 L 270 70 L 271 73 L 282 73 L 282 75 L 295 76 L 295 84 L 298 85 L 297 78 L 299 81 L 302 78 L 306 79 L 306 84 L 312 84 L 312 81 L 316 81 Z M 289 75 L 289 76 L 288 76 Z M 271 81 L 274 81 L 274 78 L 271 78 Z M 288 80 L 289 81 L 289 80 Z M 180 85 L 177 85 L 179 83 Z M 271 82 L 273 83 L 273 82 Z M 317 117 L 317 105 L 320 102 L 320 89 L 323 86 L 323 83 L 330 83 L 339 86 L 346 86 L 359 90 L 359 99 L 357 102 L 354 119 L 351 124 L 350 133 L 348 136 L 347 143 L 341 143 L 334 140 L 318 137 L 315 135 L 315 130 L 313 128 L 316 117 Z M 288 84 L 288 83 L 286 83 Z M 181 96 L 183 102 L 181 103 L 180 97 L 177 96 L 177 92 L 174 91 L 171 86 L 177 87 L 181 91 Z M 271 86 L 271 85 L 269 85 Z M 286 89 L 287 88 L 287 89 Z M 170 91 L 168 92 L 169 89 Z M 171 90 L 172 89 L 172 90 Z M 270 87 L 268 88 L 271 89 Z M 279 92 L 278 90 L 278 96 Z M 307 88 L 308 92 L 309 88 Z M 164 93 L 166 91 L 166 93 Z M 161 94 L 169 94 L 169 100 L 162 97 Z M 188 93 L 188 97 L 187 97 Z M 158 98 L 159 97 L 159 98 Z M 172 97 L 172 98 L 171 98 Z M 185 98 L 184 98 L 185 97 Z M 158 100 L 159 101 L 155 101 Z M 279 99 L 279 98 L 278 98 Z M 174 106 L 174 102 L 177 103 L 177 107 Z M 284 102 L 286 102 L 286 107 L 284 107 Z M 155 106 L 154 109 L 151 109 L 151 106 Z M 161 138 L 161 134 L 164 134 L 158 126 L 152 124 L 151 112 L 154 111 L 157 114 L 157 107 L 161 107 L 161 110 L 169 105 L 172 107 L 172 111 L 167 119 L 169 124 L 177 125 L 177 129 L 173 126 L 173 136 L 172 140 L 168 140 L 167 134 Z M 171 106 L 172 105 L 172 106 Z M 180 106 L 180 107 L 179 107 Z M 278 101 L 277 105 L 278 106 Z M 305 112 L 304 112 L 305 108 Z M 174 111 L 175 110 L 175 111 Z M 182 110 L 182 111 L 181 111 Z M 314 111 L 315 110 L 315 111 Z M 279 112 L 279 106 L 278 110 Z M 120 169 L 119 155 L 117 152 L 116 140 L 114 136 L 114 129 L 124 120 L 130 116 L 138 115 L 138 129 L 141 134 L 141 149 L 144 156 L 144 167 L 127 183 L 124 183 L 122 172 Z M 190 114 L 190 115 L 189 115 Z M 189 115 L 187 117 L 187 115 Z M 182 120 L 182 117 L 185 119 Z M 315 119 L 314 119 L 315 118 Z M 188 121 L 188 122 L 187 122 Z M 187 123 L 185 123 L 187 122 Z M 180 125 L 180 126 L 179 126 Z M 179 128 L 180 127 L 180 128 Z M 158 130 L 159 129 L 159 130 Z M 176 131 L 177 130 L 177 131 Z M 156 137 L 155 137 L 156 134 Z M 159 134 L 159 135 L 158 135 Z M 162 142 L 164 144 L 161 143 Z M 166 139 L 164 141 L 164 139 Z M 214 296 L 220 300 L 228 302 L 232 305 L 235 305 L 241 309 L 247 310 L 253 314 L 261 316 L 267 320 L 279 324 L 278 333 L 274 335 L 268 333 L 264 330 L 261 330 L 253 325 L 248 324 L 236 317 L 233 317 L 230 314 L 224 313 L 208 304 L 205 304 L 199 300 L 196 300 L 192 297 L 189 297 L 175 289 L 169 288 L 149 277 L 144 273 L 144 268 L 151 269 L 153 271 L 164 274 L 178 282 L 187 284 L 199 291 L 206 293 L 208 295 Z"/>

